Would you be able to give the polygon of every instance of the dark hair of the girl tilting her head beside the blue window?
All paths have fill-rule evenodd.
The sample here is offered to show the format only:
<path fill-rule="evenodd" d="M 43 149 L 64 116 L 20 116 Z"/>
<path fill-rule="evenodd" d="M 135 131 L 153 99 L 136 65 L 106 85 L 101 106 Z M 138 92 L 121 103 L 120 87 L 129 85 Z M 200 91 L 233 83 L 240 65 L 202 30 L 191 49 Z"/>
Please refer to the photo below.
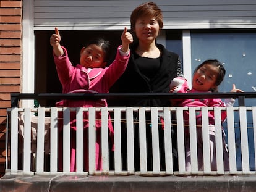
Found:
<path fill-rule="evenodd" d="M 225 74 L 226 74 L 226 70 L 224 69 L 223 64 L 221 64 L 221 62 L 218 61 L 217 59 L 208 59 L 208 60 L 205 60 L 204 62 L 202 62 L 202 64 L 198 65 L 197 68 L 195 68 L 194 73 L 197 72 L 197 70 L 200 67 L 203 67 L 203 65 L 206 65 L 206 64 L 218 67 L 218 69 L 219 69 L 218 77 L 216 77 L 216 82 L 215 82 L 216 88 L 209 90 L 212 92 L 218 92 L 218 86 L 223 81 Z"/>

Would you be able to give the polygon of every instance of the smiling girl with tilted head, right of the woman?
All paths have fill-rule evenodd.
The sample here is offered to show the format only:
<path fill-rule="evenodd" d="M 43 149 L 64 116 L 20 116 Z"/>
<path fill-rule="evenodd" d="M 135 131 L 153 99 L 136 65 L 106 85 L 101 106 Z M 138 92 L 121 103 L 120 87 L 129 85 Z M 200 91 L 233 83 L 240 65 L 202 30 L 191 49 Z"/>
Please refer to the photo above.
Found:
<path fill-rule="evenodd" d="M 217 92 L 218 85 L 223 81 L 226 70 L 218 60 L 206 60 L 194 71 L 192 78 L 192 89 L 189 90 L 187 81 L 182 78 L 174 78 L 170 84 L 170 91 L 172 93 L 202 93 L 202 92 Z M 236 89 L 233 85 L 231 92 L 242 92 Z M 225 107 L 233 106 L 234 99 L 178 99 L 173 100 L 173 104 L 179 107 Z M 211 155 L 211 170 L 216 170 L 216 154 L 215 154 L 215 120 L 212 111 L 209 111 L 209 135 L 210 135 L 210 155 Z M 221 119 L 226 119 L 226 113 L 221 114 Z M 203 144 L 202 144 L 202 114 L 196 113 L 197 122 L 197 153 L 198 153 L 198 169 L 203 170 Z M 184 112 L 184 125 L 189 125 L 189 112 Z M 188 128 L 185 129 L 186 135 L 186 170 L 191 170 L 190 164 L 190 141 Z M 223 130 L 223 156 L 224 156 L 224 170 L 229 170 L 228 150 L 224 141 Z"/>

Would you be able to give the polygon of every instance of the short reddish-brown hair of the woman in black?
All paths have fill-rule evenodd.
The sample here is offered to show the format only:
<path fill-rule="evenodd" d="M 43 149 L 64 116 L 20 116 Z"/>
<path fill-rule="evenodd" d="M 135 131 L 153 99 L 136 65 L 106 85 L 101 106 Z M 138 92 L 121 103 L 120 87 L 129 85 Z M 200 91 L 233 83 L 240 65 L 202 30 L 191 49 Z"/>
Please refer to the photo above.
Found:
<path fill-rule="evenodd" d="M 145 2 L 136 7 L 130 15 L 130 28 L 132 31 L 135 29 L 136 20 L 139 17 L 155 17 L 159 27 L 163 28 L 163 14 L 161 9 L 155 4 L 155 2 Z"/>

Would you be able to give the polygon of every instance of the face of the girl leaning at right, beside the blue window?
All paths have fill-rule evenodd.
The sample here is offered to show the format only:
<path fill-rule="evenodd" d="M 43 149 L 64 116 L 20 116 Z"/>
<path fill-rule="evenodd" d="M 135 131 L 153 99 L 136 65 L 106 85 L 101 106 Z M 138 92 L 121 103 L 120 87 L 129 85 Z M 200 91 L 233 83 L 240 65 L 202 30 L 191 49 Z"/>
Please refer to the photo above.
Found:
<path fill-rule="evenodd" d="M 200 91 L 208 91 L 216 88 L 216 79 L 218 77 L 219 69 L 210 64 L 205 64 L 200 67 L 193 76 L 192 88 Z"/>

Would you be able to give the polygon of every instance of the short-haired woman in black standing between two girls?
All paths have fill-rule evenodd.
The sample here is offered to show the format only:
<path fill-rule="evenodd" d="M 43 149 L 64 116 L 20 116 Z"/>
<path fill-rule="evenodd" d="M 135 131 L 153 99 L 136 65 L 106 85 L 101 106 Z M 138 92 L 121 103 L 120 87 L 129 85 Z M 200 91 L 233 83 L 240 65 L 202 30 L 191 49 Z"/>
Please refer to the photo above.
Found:
<path fill-rule="evenodd" d="M 161 9 L 154 2 L 146 2 L 136 7 L 130 15 L 131 31 L 137 38 L 137 43 L 130 46 L 130 58 L 127 68 L 121 78 L 116 81 L 109 92 L 113 93 L 168 93 L 169 84 L 174 77 L 182 76 L 179 56 L 169 52 L 161 44 L 156 44 L 156 38 L 163 28 Z M 126 107 L 163 107 L 170 106 L 169 99 L 127 99 L 112 101 L 109 106 Z M 137 119 L 137 114 L 134 114 Z M 150 120 L 147 114 L 147 120 Z M 125 125 L 124 125 L 125 126 Z M 125 129 L 122 128 L 122 131 Z M 139 169 L 139 129 L 135 133 L 135 169 Z M 160 128 L 160 161 L 164 167 L 163 130 Z M 123 136 L 123 146 L 126 144 L 126 133 Z M 124 150 L 126 147 L 124 147 Z M 151 129 L 147 127 L 148 169 L 152 170 Z M 126 159 L 126 158 L 124 158 Z M 126 163 L 124 162 L 124 166 Z"/>

